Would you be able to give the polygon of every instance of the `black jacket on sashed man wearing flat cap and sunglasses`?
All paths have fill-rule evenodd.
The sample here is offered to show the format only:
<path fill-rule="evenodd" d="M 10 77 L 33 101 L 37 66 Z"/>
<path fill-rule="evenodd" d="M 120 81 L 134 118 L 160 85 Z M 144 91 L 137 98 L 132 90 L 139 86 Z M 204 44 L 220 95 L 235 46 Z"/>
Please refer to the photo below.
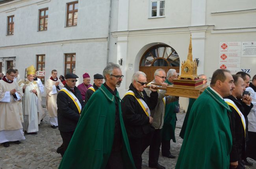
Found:
<path fill-rule="evenodd" d="M 72 92 L 69 86 L 65 85 L 65 88 Z M 82 100 L 82 95 L 76 86 L 74 87 L 73 94 L 79 100 L 82 106 L 82 112 L 85 104 Z M 74 101 L 72 101 L 65 92 L 60 91 L 57 95 L 57 107 L 59 130 L 63 132 L 74 131 L 80 118 L 80 114 Z"/>

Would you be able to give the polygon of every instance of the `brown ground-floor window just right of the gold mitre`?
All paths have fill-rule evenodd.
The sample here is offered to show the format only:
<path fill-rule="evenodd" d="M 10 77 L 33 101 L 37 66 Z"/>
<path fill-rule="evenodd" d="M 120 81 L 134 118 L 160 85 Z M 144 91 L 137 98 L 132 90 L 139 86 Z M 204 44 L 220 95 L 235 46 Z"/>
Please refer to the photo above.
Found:
<path fill-rule="evenodd" d="M 45 84 L 45 55 L 37 55 L 37 78 Z"/>

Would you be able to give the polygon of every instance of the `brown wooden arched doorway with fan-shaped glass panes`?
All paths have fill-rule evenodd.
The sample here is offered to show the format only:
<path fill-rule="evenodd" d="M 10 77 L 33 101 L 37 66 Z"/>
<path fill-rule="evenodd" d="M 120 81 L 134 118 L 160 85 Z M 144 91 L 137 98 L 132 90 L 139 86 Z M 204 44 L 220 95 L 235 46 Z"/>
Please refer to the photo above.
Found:
<path fill-rule="evenodd" d="M 146 73 L 148 82 L 154 79 L 154 72 L 159 68 L 165 72 L 175 69 L 179 73 L 180 58 L 171 46 L 165 44 L 152 46 L 141 57 L 139 71 Z"/>

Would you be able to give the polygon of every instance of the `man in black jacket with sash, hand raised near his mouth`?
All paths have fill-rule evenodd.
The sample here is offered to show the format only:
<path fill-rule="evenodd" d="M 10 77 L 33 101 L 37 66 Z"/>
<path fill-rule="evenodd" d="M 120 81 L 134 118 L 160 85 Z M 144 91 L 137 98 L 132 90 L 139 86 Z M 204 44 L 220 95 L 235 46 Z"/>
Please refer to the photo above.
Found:
<path fill-rule="evenodd" d="M 235 88 L 232 95 L 225 98 L 232 112 L 230 113 L 230 125 L 232 132 L 232 150 L 230 152 L 230 168 L 245 169 L 245 118 L 253 107 L 252 98 L 243 95 L 245 83 L 240 75 L 232 75 Z M 242 99 L 240 98 L 242 97 Z"/>

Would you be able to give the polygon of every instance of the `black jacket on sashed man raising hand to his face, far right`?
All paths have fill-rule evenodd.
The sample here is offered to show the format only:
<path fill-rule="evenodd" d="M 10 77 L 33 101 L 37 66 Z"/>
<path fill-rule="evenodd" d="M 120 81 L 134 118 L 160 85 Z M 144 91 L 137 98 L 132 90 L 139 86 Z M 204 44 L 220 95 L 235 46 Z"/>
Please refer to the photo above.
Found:
<path fill-rule="evenodd" d="M 236 99 L 234 96 L 225 97 L 226 99 L 232 100 L 239 108 L 245 118 L 250 113 L 250 109 L 253 107 L 252 103 L 250 106 L 246 105 L 241 99 Z M 236 162 L 245 158 L 245 131 L 243 129 L 243 123 L 240 115 L 236 110 L 231 107 L 232 112 L 230 113 L 230 126 L 232 132 L 232 149 L 230 152 L 230 162 Z M 248 125 L 248 124 L 246 124 Z"/>

